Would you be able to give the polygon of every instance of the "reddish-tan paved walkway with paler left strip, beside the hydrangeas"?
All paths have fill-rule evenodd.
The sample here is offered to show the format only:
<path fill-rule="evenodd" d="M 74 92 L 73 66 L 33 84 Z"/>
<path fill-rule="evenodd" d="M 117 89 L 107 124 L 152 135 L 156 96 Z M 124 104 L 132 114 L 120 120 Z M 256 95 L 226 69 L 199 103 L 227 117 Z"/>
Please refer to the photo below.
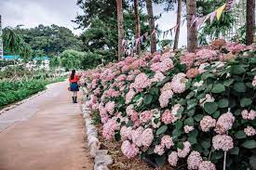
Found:
<path fill-rule="evenodd" d="M 67 85 L 49 85 L 0 115 L 0 170 L 93 169 L 80 105 L 71 103 Z"/>

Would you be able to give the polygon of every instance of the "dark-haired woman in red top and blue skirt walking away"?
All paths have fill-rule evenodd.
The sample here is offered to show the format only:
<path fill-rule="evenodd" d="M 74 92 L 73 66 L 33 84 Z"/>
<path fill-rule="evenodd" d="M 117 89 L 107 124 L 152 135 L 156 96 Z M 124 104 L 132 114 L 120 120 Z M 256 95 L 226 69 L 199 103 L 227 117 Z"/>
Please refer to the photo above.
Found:
<path fill-rule="evenodd" d="M 73 70 L 71 72 L 71 75 L 69 77 L 69 82 L 70 82 L 70 91 L 73 92 L 73 103 L 77 103 L 77 91 L 79 91 L 79 86 L 77 82 L 79 81 L 80 76 L 75 74 L 75 71 Z"/>

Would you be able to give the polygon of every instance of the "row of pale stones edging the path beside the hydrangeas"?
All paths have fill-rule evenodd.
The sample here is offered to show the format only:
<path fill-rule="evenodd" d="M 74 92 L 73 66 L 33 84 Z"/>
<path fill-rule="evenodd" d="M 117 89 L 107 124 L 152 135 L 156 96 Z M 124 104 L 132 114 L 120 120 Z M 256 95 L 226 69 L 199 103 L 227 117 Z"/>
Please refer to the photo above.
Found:
<path fill-rule="evenodd" d="M 83 90 L 84 91 L 84 90 Z M 85 91 L 84 91 L 85 92 Z M 94 170 L 108 170 L 108 164 L 113 163 L 113 159 L 108 155 L 108 150 L 101 150 L 98 132 L 92 123 L 90 113 L 85 104 L 82 104 L 83 117 L 86 123 L 86 134 L 88 137 L 88 149 L 90 156 L 94 158 Z"/>

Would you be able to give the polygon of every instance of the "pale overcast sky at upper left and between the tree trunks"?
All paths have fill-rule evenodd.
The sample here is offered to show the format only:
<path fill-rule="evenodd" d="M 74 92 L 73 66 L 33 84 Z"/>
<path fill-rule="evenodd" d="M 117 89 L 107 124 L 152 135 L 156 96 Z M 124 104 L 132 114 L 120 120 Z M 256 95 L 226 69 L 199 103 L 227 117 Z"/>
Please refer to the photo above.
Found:
<path fill-rule="evenodd" d="M 0 0 L 0 15 L 3 27 L 23 24 L 24 27 L 35 27 L 39 24 L 57 24 L 71 29 L 79 34 L 81 30 L 74 30 L 75 19 L 79 7 L 76 0 Z M 115 6 L 115 5 L 114 5 Z M 161 6 L 154 6 L 155 15 L 163 13 Z M 81 11 L 80 11 L 81 12 Z M 176 22 L 176 12 L 163 13 L 162 18 L 156 21 L 162 31 L 173 27 Z M 167 37 L 168 38 L 168 37 Z M 185 24 L 182 27 L 180 46 L 185 45 Z"/>

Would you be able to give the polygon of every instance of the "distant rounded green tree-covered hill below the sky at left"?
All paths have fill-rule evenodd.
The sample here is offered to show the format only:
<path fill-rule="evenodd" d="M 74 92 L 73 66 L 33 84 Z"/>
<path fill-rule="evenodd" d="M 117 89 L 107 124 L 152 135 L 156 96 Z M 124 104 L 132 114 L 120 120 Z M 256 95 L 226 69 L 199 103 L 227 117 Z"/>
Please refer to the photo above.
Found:
<path fill-rule="evenodd" d="M 4 34 L 6 32 L 7 28 L 3 30 Z M 40 51 L 41 55 L 55 56 L 66 49 L 79 50 L 81 46 L 81 41 L 71 30 L 54 24 L 51 26 L 40 24 L 30 29 L 15 27 L 13 32 L 19 34 L 35 52 Z M 8 54 L 11 54 L 10 52 Z M 37 56 L 36 53 L 34 56 Z"/>

